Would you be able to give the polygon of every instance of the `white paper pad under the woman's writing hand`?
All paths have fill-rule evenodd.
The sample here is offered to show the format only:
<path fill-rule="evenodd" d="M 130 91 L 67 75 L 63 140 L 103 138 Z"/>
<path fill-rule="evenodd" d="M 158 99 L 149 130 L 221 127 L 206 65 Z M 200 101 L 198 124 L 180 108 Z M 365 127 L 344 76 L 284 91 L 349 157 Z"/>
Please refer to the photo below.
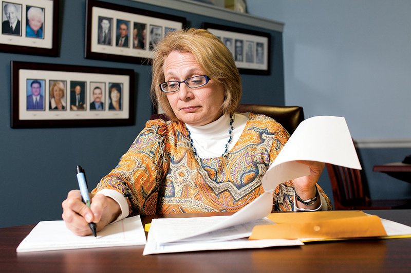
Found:
<path fill-rule="evenodd" d="M 108 246 L 143 245 L 146 243 L 140 216 L 125 218 L 106 226 L 97 237 L 76 236 L 64 221 L 43 221 L 37 224 L 18 245 L 18 253 L 30 251 L 77 249 Z"/>

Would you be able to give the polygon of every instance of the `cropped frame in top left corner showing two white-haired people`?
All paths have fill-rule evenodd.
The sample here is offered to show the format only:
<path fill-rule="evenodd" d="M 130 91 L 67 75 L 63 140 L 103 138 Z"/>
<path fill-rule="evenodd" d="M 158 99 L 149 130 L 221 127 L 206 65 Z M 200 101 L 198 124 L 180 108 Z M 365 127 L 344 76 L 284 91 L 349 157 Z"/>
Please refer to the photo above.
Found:
<path fill-rule="evenodd" d="M 59 0 L 7 0 L 0 3 L 0 51 L 58 56 Z"/>

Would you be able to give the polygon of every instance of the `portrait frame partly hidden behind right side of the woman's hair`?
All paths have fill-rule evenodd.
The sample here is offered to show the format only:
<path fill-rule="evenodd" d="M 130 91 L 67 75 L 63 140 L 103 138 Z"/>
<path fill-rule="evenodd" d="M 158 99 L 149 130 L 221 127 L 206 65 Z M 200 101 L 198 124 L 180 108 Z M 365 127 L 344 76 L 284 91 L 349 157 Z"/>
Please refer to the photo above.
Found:
<path fill-rule="evenodd" d="M 240 73 L 270 74 L 270 33 L 211 23 L 202 23 L 202 28 L 222 40 L 232 53 Z"/>

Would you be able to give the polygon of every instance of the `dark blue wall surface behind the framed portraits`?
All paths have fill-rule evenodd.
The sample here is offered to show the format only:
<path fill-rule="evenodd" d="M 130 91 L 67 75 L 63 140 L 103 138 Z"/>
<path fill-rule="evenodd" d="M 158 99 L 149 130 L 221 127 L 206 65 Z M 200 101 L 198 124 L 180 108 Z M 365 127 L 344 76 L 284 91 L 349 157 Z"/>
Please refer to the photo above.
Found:
<path fill-rule="evenodd" d="M 133 1 L 110 2 L 163 13 L 172 11 Z M 284 105 L 282 33 L 181 11 L 173 11 L 173 14 L 186 17 L 191 27 L 208 22 L 270 32 L 272 73 L 269 76 L 242 75 L 242 102 Z M 3 87 L 0 92 L 0 166 L 3 167 L 0 227 L 61 219 L 61 202 L 69 190 L 77 188 L 76 164 L 86 169 L 89 186 L 95 186 L 116 166 L 151 115 L 151 67 L 84 58 L 85 0 L 62 0 L 59 18 L 59 57 L 0 53 Z M 11 129 L 11 60 L 133 69 L 136 72 L 136 124 L 129 127 Z"/>

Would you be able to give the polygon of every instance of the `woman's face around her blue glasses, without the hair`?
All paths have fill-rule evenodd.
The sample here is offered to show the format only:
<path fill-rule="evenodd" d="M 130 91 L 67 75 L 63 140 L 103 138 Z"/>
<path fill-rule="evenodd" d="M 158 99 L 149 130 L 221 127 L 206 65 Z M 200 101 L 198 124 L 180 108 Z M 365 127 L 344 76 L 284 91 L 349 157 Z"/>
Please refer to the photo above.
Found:
<path fill-rule="evenodd" d="M 165 59 L 165 81 L 182 81 L 199 75 L 204 75 L 204 72 L 191 53 L 173 51 Z M 167 99 L 179 120 L 190 125 L 205 125 L 222 115 L 224 89 L 213 79 L 207 85 L 193 89 L 181 83 L 178 91 L 167 93 Z"/>

